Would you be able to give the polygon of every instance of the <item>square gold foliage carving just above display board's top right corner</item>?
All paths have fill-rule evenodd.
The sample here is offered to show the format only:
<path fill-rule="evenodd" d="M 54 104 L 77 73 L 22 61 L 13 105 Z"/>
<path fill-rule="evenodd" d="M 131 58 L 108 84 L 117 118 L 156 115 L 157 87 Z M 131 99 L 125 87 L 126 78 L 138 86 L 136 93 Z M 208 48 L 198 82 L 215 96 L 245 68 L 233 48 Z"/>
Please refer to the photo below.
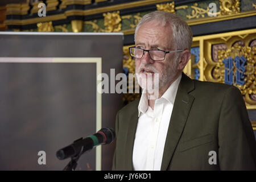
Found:
<path fill-rule="evenodd" d="M 104 13 L 105 32 L 119 32 L 121 31 L 121 17 L 119 11 L 113 13 Z"/>

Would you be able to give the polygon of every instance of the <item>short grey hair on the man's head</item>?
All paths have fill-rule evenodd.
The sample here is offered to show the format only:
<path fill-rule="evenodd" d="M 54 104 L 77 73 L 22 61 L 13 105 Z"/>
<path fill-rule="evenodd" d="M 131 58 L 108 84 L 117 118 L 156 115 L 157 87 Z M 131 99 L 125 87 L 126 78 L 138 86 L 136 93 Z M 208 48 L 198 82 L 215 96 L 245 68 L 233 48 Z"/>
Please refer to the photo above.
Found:
<path fill-rule="evenodd" d="M 172 36 L 176 49 L 191 49 L 193 38 L 191 28 L 188 26 L 185 20 L 180 18 L 180 16 L 168 13 L 166 11 L 153 11 L 144 15 L 135 29 L 134 40 L 136 38 L 139 27 L 141 27 L 142 24 L 151 22 L 153 20 L 158 22 L 158 24 L 161 26 L 165 26 L 167 23 L 171 25 L 173 31 Z"/>

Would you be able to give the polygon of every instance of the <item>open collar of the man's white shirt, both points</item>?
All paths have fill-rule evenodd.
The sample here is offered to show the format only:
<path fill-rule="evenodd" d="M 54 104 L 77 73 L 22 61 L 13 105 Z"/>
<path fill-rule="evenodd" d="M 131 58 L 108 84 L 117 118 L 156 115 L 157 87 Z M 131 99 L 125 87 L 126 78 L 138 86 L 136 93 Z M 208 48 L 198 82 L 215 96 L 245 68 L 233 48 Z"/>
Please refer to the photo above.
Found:
<path fill-rule="evenodd" d="M 174 104 L 176 93 L 177 93 L 177 88 L 179 86 L 180 80 L 181 80 L 181 75 L 176 78 L 174 82 L 168 87 L 166 92 L 164 92 L 163 96 L 159 99 L 166 99 L 168 102 L 171 102 L 171 104 Z M 146 113 L 148 109 L 148 95 L 147 93 L 143 93 L 141 95 L 141 100 L 139 100 L 139 106 L 138 106 L 138 117 L 141 115 L 141 113 Z"/>

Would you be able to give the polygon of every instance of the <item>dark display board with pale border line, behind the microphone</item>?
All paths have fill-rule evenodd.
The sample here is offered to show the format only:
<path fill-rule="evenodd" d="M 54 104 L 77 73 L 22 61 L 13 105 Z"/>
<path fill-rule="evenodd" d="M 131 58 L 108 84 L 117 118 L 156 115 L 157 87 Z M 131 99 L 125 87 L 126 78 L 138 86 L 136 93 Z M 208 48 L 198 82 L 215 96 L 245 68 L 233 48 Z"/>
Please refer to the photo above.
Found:
<path fill-rule="evenodd" d="M 122 94 L 97 92 L 97 75 L 122 73 L 122 45 L 120 33 L 0 33 L 0 170 L 62 170 L 57 150 L 114 129 Z M 76 169 L 110 170 L 114 144 Z"/>

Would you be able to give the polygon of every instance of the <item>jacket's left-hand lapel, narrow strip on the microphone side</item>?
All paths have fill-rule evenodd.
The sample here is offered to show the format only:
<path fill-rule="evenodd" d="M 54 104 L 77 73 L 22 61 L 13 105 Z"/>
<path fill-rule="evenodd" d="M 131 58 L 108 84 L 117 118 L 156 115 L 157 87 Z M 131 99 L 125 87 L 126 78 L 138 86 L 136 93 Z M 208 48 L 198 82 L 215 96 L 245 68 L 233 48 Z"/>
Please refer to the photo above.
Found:
<path fill-rule="evenodd" d="M 135 133 L 137 130 L 137 123 L 138 123 L 138 106 L 134 107 L 134 109 L 135 109 L 134 114 L 132 114 L 129 121 L 129 128 L 127 131 L 127 138 L 125 143 L 125 146 L 126 146 L 125 165 L 126 166 L 124 166 L 124 168 L 129 171 L 133 170 L 133 145 L 134 145 Z"/>

